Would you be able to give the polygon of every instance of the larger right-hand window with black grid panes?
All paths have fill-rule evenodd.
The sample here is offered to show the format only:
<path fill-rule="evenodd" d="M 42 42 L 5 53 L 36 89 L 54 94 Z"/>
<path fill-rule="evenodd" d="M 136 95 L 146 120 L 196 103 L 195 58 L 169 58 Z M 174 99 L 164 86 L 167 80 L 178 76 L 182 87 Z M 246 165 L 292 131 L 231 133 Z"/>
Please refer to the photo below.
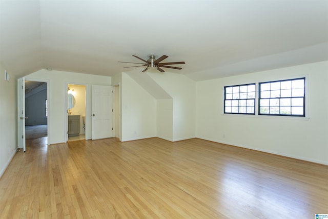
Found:
<path fill-rule="evenodd" d="M 259 115 L 305 116 L 305 78 L 259 83 Z"/>

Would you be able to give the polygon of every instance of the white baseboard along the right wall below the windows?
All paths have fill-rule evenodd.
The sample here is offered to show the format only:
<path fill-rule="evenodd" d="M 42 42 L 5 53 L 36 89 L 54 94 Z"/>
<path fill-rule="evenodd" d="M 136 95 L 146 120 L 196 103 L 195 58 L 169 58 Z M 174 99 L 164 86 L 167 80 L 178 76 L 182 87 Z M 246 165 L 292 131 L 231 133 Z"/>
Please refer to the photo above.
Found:
<path fill-rule="evenodd" d="M 312 162 L 312 163 L 316 163 L 316 164 L 328 165 L 328 162 L 318 161 L 318 160 L 311 159 L 311 158 L 308 158 L 308 157 L 293 156 L 293 155 L 290 155 L 290 154 L 277 153 L 277 152 L 271 151 L 271 150 L 263 150 L 263 149 L 253 148 L 253 147 L 249 147 L 249 146 L 245 146 L 245 145 L 232 144 L 230 142 L 217 141 L 217 140 L 213 140 L 211 138 L 206 138 L 206 137 L 199 137 L 198 136 L 197 138 L 202 139 L 202 140 L 207 140 L 207 141 L 210 141 L 210 142 L 216 142 L 216 143 L 224 144 L 224 145 L 231 145 L 231 146 L 235 146 L 235 147 L 247 148 L 247 149 L 255 150 L 255 151 L 261 151 L 261 152 L 264 152 L 264 153 L 270 153 L 270 154 L 275 154 L 275 155 L 279 155 L 279 156 L 290 157 L 290 158 L 294 158 L 294 159 L 301 160 L 301 161 L 308 161 L 308 162 Z"/>

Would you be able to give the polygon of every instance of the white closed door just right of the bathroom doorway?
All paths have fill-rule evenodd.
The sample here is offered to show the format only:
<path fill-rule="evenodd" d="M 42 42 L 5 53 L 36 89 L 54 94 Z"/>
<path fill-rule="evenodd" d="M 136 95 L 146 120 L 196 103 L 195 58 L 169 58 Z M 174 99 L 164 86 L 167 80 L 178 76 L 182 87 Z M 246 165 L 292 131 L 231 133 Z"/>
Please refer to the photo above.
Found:
<path fill-rule="evenodd" d="M 92 85 L 92 140 L 113 137 L 112 87 Z"/>

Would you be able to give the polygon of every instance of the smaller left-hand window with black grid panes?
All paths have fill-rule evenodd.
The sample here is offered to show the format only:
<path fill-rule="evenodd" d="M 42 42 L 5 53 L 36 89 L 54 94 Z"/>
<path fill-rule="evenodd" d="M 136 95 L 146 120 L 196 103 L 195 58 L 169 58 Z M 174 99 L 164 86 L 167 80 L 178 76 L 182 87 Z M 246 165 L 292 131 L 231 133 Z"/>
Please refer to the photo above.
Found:
<path fill-rule="evenodd" d="M 224 113 L 255 114 L 255 83 L 224 87 Z"/>

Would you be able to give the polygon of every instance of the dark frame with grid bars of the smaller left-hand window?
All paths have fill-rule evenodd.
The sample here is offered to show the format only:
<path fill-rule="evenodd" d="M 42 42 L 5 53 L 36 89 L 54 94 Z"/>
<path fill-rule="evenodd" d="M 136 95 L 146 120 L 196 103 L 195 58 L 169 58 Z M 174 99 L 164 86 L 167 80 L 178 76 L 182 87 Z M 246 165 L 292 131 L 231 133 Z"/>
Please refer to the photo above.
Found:
<path fill-rule="evenodd" d="M 240 92 L 240 87 L 244 87 L 244 86 L 254 86 L 254 91 L 247 91 L 246 92 Z M 232 90 L 234 88 L 238 88 L 238 92 L 231 92 L 231 93 L 227 93 L 227 88 L 232 88 Z M 256 109 L 256 83 L 250 83 L 250 84 L 242 84 L 242 85 L 232 85 L 232 86 L 224 86 L 224 98 L 223 98 L 223 113 L 224 114 L 243 114 L 243 115 L 255 115 L 255 109 Z M 238 93 L 238 98 L 234 98 L 233 94 L 237 94 Z M 247 98 L 240 98 L 240 93 L 246 93 Z M 248 98 L 248 93 L 254 93 L 254 98 Z M 227 98 L 227 94 L 231 94 L 231 98 Z M 238 106 L 233 106 L 233 101 L 238 100 Z M 231 112 L 227 112 L 226 111 L 226 107 L 230 107 L 227 106 L 227 101 L 231 101 Z M 240 106 L 240 101 L 245 101 L 246 105 L 245 106 Z M 251 105 L 247 105 L 249 101 L 253 101 L 253 106 Z M 233 107 L 238 107 L 238 112 L 233 112 Z M 240 108 L 241 107 L 245 107 L 245 111 L 246 112 L 240 112 Z M 247 112 L 248 111 L 248 107 L 252 107 L 253 108 L 253 112 Z"/>

